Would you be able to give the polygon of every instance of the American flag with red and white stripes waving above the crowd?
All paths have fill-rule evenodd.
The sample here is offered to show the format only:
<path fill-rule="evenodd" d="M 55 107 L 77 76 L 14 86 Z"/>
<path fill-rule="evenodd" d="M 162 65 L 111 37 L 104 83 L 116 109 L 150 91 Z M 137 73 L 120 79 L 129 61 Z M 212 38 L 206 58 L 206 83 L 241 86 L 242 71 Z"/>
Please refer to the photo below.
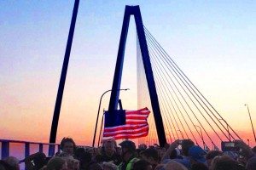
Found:
<path fill-rule="evenodd" d="M 103 138 L 137 139 L 147 136 L 149 113 L 148 108 L 138 111 L 105 111 Z"/>

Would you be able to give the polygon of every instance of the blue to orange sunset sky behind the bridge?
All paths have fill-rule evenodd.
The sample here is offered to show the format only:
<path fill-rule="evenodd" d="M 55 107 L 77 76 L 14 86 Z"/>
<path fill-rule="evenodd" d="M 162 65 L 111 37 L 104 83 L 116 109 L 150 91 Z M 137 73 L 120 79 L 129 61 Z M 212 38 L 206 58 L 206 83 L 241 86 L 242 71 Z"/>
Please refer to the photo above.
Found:
<path fill-rule="evenodd" d="M 0 2 L 0 139 L 48 142 L 74 1 Z M 125 5 L 245 140 L 256 126 L 254 1 L 83 1 L 61 106 L 57 141 L 92 142 L 99 99 L 112 88 Z M 128 33 L 120 93 L 137 110 L 136 31 Z M 109 94 L 102 100 L 108 110 Z M 102 112 L 101 112 L 102 114 Z M 256 128 L 256 127 L 255 127 Z"/>

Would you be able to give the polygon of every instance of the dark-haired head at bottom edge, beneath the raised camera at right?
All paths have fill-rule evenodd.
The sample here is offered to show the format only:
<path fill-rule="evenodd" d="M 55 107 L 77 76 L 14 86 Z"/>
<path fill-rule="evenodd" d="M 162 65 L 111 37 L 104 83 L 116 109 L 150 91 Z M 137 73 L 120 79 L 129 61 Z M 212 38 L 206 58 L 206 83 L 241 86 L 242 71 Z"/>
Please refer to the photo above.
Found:
<path fill-rule="evenodd" d="M 212 160 L 210 170 L 245 170 L 238 161 L 233 160 L 229 156 L 216 156 Z"/>

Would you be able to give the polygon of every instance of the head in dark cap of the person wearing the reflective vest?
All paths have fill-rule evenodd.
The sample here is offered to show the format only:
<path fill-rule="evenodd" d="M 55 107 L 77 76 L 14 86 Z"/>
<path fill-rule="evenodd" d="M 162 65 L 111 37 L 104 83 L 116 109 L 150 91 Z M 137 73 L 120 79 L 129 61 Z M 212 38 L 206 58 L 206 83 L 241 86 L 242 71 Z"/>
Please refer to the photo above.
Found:
<path fill-rule="evenodd" d="M 128 161 L 131 158 L 131 156 L 133 156 L 136 152 L 136 146 L 134 142 L 132 142 L 131 140 L 125 140 L 119 145 L 122 148 L 121 156 L 124 159 L 124 161 Z"/>

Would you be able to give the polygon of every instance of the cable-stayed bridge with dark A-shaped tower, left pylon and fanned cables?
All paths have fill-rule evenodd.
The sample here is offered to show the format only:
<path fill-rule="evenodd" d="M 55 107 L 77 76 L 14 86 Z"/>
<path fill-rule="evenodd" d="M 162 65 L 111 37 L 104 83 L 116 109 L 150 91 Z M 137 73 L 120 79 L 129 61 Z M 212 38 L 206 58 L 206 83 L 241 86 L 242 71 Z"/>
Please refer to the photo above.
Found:
<path fill-rule="evenodd" d="M 67 51 L 63 68 L 66 69 L 76 20 L 79 1 L 76 1 L 73 11 L 73 22 L 67 42 Z M 170 143 L 175 139 L 193 139 L 200 145 L 215 145 L 223 140 L 240 139 L 229 121 L 218 113 L 210 102 L 201 94 L 199 89 L 179 69 L 171 56 L 161 48 L 160 43 L 143 26 L 143 20 L 137 6 L 126 7 L 124 24 L 120 38 L 119 58 L 116 71 L 117 78 L 113 78 L 113 94 L 109 109 L 117 109 L 121 82 L 121 69 L 125 52 L 125 37 L 129 29 L 130 16 L 134 15 L 137 26 L 137 80 L 138 107 L 148 106 L 152 111 L 148 118 L 148 136 L 139 139 L 139 143 L 160 144 Z M 123 36 L 123 38 L 122 38 Z M 117 67 L 116 67 L 117 68 Z M 64 71 L 65 73 L 65 71 Z M 63 73 L 63 74 L 64 74 Z M 62 74 L 61 74 L 62 75 Z M 65 75 L 60 81 L 60 95 L 56 100 L 55 118 L 50 143 L 55 143 L 58 117 L 61 108 L 61 95 L 65 85 Z M 61 92 L 62 91 L 62 92 Z M 99 129 L 98 129 L 99 130 Z M 55 132 L 54 132 L 55 131 Z M 26 146 L 27 148 L 27 146 Z"/>

